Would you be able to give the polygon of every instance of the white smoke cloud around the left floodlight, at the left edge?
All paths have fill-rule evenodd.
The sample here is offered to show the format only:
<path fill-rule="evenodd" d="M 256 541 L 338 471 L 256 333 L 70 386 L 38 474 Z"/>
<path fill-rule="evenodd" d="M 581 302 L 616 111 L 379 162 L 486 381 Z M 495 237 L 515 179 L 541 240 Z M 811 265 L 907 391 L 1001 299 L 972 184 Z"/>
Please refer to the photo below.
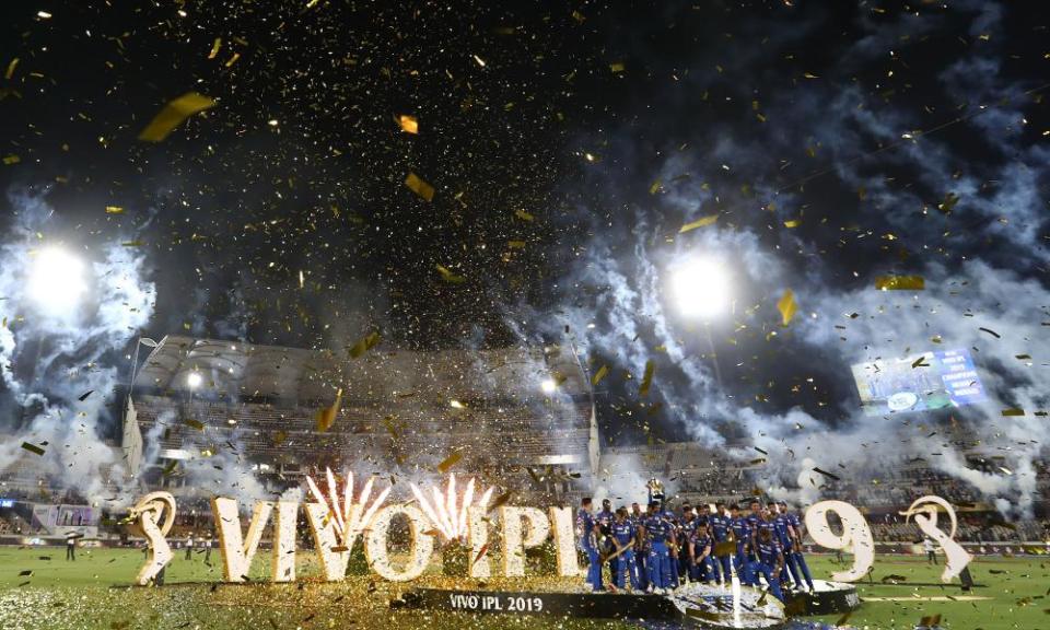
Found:
<path fill-rule="evenodd" d="M 120 241 L 96 248 L 49 243 L 37 236 L 47 234 L 56 212 L 44 195 L 15 191 L 9 198 L 15 218 L 0 245 L 0 310 L 7 319 L 0 327 L 0 373 L 18 406 L 40 409 L 0 444 L 0 470 L 26 456 L 22 441 L 46 443 L 40 463 L 49 477 L 93 502 L 105 501 L 116 486 L 106 487 L 100 468 L 112 467 L 114 483 L 126 477 L 119 451 L 102 441 L 118 421 L 109 402 L 121 378 L 120 352 L 152 316 L 155 288 L 136 249 Z M 34 257 L 49 246 L 84 260 L 88 290 L 70 313 L 49 313 L 31 295 Z"/>

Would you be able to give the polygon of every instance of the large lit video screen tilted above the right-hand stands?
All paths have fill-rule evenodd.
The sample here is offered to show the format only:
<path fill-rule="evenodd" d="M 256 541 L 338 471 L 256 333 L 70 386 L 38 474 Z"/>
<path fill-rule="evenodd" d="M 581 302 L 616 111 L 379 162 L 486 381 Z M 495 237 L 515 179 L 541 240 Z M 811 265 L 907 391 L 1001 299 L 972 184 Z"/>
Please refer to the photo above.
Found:
<path fill-rule="evenodd" d="M 867 416 L 960 407 L 987 400 L 968 350 L 856 363 L 853 380 Z"/>

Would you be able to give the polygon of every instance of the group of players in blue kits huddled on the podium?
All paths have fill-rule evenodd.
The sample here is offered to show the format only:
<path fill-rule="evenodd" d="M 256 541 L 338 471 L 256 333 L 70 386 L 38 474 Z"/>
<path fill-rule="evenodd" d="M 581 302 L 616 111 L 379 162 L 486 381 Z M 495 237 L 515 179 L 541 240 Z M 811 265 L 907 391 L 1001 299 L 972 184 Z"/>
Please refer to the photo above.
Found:
<path fill-rule="evenodd" d="M 576 516 L 576 533 L 590 567 L 587 583 L 604 591 L 603 567 L 609 565 L 610 590 L 666 593 L 685 582 L 730 583 L 736 573 L 748 586 L 765 579 L 769 592 L 783 600 L 783 588 L 813 591 L 813 578 L 802 553 L 803 523 L 783 501 L 762 505 L 754 500 L 747 514 L 740 506 L 716 503 L 699 513 L 684 504 L 680 513 L 653 498 L 649 510 L 639 504 L 615 512 L 608 499 L 592 512 L 590 498 Z"/>

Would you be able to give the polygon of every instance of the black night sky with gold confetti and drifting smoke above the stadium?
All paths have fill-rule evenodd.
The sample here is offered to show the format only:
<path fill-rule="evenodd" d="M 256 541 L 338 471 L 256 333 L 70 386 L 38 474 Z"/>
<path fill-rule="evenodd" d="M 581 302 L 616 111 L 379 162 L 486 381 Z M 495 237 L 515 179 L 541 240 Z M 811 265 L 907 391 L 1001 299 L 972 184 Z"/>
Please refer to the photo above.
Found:
<path fill-rule="evenodd" d="M 572 339 L 608 366 L 610 440 L 855 433 L 849 365 L 931 343 L 984 371 L 992 401 L 964 421 L 1047 404 L 1041 3 L 2 11 L 2 219 L 44 202 L 23 240 L 132 250 L 156 296 L 135 335 L 338 352 L 373 330 L 386 349 Z M 137 138 L 188 92 L 214 106 Z M 721 383 L 704 325 L 665 290 L 698 253 L 733 276 L 710 324 Z M 877 291 L 885 275 L 926 289 Z M 131 339 L 97 355 L 126 369 Z M 1045 456 L 1037 442 L 1016 456 Z"/>

